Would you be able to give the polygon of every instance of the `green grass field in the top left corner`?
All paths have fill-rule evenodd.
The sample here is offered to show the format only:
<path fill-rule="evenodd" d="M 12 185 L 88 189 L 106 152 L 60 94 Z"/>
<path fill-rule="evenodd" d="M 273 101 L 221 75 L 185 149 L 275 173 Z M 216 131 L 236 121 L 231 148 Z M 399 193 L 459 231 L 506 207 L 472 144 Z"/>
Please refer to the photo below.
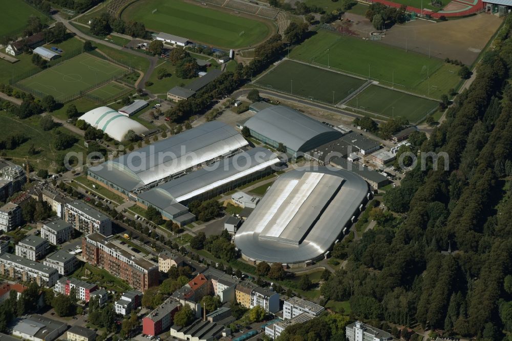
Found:
<path fill-rule="evenodd" d="M 0 36 L 21 33 L 31 15 L 40 17 L 43 23 L 48 21 L 47 16 L 23 0 L 2 0 L 0 4 L 4 4 L 0 13 Z"/>

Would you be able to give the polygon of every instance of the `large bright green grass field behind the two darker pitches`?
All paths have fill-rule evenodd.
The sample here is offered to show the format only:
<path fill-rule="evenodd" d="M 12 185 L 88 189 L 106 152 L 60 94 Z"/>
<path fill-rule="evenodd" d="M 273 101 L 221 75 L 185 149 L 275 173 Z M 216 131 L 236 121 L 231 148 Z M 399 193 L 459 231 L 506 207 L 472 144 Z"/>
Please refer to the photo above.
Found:
<path fill-rule="evenodd" d="M 439 58 L 394 48 L 375 41 L 366 41 L 352 36 L 343 36 L 319 30 L 300 46 L 290 52 L 290 58 L 359 75 L 368 75 L 386 86 L 411 90 L 428 95 L 430 86 L 454 87 L 460 78 L 457 73 L 442 69 L 444 61 Z M 456 67 L 457 68 L 457 67 Z M 444 70 L 444 71 L 443 71 Z M 440 76 L 436 73 L 440 72 Z M 431 93 L 432 95 L 437 95 Z"/>

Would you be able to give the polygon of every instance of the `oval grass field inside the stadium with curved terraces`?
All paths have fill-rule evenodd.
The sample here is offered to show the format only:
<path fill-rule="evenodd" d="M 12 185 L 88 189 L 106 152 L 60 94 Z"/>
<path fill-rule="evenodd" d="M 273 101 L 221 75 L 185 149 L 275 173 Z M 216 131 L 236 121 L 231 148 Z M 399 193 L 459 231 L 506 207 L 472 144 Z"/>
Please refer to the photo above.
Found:
<path fill-rule="evenodd" d="M 155 13 L 152 13 L 154 10 Z M 143 22 L 147 29 L 174 34 L 205 45 L 238 49 L 254 46 L 271 32 L 270 23 L 215 6 L 193 5 L 180 0 L 140 0 L 122 12 L 125 20 Z"/>

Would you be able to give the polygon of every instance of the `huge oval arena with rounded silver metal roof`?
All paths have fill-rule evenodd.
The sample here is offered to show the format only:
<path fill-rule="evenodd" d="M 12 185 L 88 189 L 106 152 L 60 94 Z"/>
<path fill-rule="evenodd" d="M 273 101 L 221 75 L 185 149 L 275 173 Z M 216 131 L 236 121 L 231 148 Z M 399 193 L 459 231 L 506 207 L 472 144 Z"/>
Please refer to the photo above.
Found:
<path fill-rule="evenodd" d="M 275 180 L 234 242 L 254 264 L 305 266 L 324 257 L 367 195 L 368 184 L 352 172 L 295 169 Z"/>

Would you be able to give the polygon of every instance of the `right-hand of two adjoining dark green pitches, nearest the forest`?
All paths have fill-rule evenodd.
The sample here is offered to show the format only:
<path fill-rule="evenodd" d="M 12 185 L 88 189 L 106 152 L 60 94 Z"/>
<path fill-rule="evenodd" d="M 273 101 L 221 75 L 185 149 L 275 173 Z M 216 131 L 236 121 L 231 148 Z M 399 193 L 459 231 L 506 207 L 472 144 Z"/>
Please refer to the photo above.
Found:
<path fill-rule="evenodd" d="M 345 104 L 380 115 L 401 116 L 417 122 L 437 108 L 439 102 L 371 85 Z"/>

